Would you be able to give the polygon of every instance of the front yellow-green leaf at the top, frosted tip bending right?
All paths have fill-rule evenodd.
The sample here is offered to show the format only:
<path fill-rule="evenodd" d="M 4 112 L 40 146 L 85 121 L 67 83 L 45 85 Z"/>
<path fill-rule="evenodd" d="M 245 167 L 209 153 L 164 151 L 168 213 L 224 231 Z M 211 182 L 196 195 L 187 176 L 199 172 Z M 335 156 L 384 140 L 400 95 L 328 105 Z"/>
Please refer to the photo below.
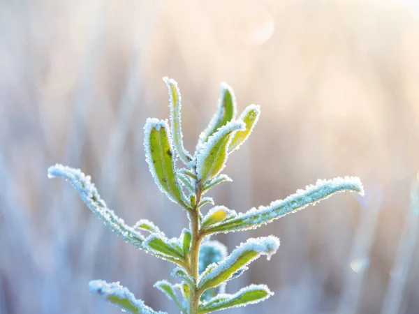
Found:
<path fill-rule="evenodd" d="M 227 161 L 227 148 L 232 135 L 237 130 L 244 130 L 243 121 L 230 121 L 210 136 L 200 147 L 196 156 L 196 173 L 200 184 L 205 184 L 223 170 Z"/>

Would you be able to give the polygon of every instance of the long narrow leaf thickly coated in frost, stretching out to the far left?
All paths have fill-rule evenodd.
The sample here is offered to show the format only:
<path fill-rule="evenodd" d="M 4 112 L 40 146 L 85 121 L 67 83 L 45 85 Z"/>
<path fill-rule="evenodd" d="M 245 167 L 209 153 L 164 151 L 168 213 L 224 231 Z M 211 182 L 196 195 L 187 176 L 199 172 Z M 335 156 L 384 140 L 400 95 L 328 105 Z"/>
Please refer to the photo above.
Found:
<path fill-rule="evenodd" d="M 140 232 L 124 223 L 114 211 L 108 209 L 105 201 L 101 199 L 98 190 L 91 183 L 91 177 L 86 176 L 79 169 L 66 167 L 64 165 L 53 165 L 48 169 L 48 177 L 63 177 L 77 190 L 83 202 L 98 218 L 101 218 L 105 225 L 116 232 L 119 237 L 129 244 L 133 244 L 137 248 L 143 248 L 142 242 L 144 237 Z"/>

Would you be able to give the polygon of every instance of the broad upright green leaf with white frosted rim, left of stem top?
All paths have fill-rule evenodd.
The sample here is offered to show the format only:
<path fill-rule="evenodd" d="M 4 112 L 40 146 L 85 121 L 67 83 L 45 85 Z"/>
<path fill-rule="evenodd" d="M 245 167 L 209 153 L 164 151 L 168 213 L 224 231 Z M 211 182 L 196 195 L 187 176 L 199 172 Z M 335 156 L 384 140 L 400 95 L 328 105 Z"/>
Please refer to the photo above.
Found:
<path fill-rule="evenodd" d="M 154 181 L 169 199 L 189 209 L 182 189 L 177 181 L 173 162 L 172 138 L 166 121 L 147 119 L 144 126 L 145 154 Z"/>

